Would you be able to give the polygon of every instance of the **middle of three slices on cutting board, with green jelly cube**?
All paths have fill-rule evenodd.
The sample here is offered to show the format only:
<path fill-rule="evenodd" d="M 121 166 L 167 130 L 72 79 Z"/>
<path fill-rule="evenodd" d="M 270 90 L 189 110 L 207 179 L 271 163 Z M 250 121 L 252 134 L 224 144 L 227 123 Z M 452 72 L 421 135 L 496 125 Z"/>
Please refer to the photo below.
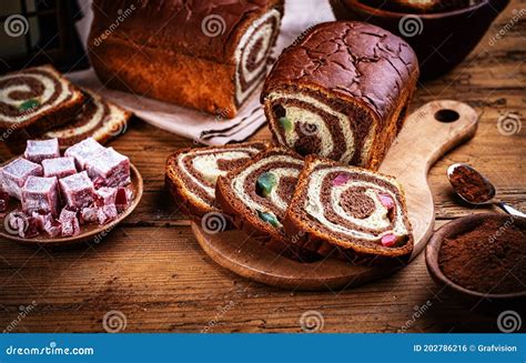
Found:
<path fill-rule="evenodd" d="M 283 229 L 283 218 L 303 169 L 303 158 L 284 148 L 260 153 L 244 168 L 218 180 L 215 195 L 233 224 L 275 252 L 300 258 Z"/>

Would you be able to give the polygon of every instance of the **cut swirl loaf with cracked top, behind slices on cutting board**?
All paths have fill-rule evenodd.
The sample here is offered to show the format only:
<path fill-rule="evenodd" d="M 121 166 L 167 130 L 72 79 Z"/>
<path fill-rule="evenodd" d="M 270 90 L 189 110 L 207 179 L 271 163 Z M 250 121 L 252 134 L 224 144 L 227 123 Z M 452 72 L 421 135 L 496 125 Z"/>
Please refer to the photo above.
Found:
<path fill-rule="evenodd" d="M 262 92 L 277 143 L 377 169 L 418 78 L 409 46 L 378 27 L 315 26 L 280 56 Z"/>

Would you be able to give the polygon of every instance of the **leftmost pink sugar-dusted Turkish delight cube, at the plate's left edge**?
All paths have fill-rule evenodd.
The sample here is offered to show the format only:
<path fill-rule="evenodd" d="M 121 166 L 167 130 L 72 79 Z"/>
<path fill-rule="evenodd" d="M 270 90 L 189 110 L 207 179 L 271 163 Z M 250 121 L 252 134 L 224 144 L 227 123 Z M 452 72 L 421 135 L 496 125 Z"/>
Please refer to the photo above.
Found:
<path fill-rule="evenodd" d="M 30 177 L 42 177 L 42 167 L 19 158 L 0 169 L 2 189 L 11 196 L 22 200 L 22 186 Z"/>

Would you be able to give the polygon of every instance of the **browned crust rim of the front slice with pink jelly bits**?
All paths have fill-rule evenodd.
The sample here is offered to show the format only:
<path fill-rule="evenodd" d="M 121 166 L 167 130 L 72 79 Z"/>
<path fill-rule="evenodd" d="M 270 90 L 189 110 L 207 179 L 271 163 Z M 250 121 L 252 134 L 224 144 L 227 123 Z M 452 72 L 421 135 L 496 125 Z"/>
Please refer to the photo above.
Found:
<path fill-rule="evenodd" d="M 362 239 L 353 239 L 351 236 L 344 236 L 340 233 L 334 232 L 327 225 L 322 224 L 318 220 L 313 218 L 305 210 L 305 201 L 308 192 L 310 180 L 313 175 L 313 171 L 323 170 L 324 168 L 344 168 L 346 171 L 360 174 L 368 174 L 384 180 L 386 184 L 391 184 L 391 191 L 396 195 L 396 201 L 399 205 L 399 210 L 394 213 L 401 213 L 402 220 L 407 234 L 404 235 L 405 243 L 401 246 L 383 246 L 378 241 L 372 242 Z M 372 179 L 374 182 L 374 179 Z M 322 190 L 327 192 L 327 188 L 323 186 Z M 331 195 L 331 194 L 330 194 Z M 337 201 L 338 203 L 341 201 Z M 354 199 L 353 203 L 357 203 Z M 356 205 L 356 204 L 355 204 Z M 326 215 L 327 211 L 323 209 L 323 215 Z M 396 214 L 394 214 L 396 215 Z M 413 234 L 411 223 L 407 219 L 407 209 L 405 204 L 405 196 L 401 185 L 392 177 L 384 175 L 381 173 L 374 173 L 372 171 L 357 168 L 357 167 L 344 167 L 338 162 L 322 159 L 316 157 L 305 158 L 305 167 L 299 178 L 294 195 L 291 204 L 286 211 L 285 219 L 283 221 L 285 232 L 289 235 L 297 235 L 297 244 L 304 249 L 315 251 L 316 253 L 324 256 L 335 256 L 342 260 L 351 261 L 355 264 L 381 264 L 399 262 L 405 263 L 408 261 L 413 251 Z"/>

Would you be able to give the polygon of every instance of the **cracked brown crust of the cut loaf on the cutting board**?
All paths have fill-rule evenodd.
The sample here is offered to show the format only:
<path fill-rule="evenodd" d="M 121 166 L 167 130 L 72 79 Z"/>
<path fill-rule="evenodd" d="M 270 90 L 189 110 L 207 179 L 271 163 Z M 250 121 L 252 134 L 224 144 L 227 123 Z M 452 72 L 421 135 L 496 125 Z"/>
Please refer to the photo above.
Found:
<path fill-rule="evenodd" d="M 283 138 L 276 94 L 307 95 L 343 114 L 358 112 L 363 120 L 352 125 L 357 149 L 350 163 L 375 170 L 403 124 L 418 74 L 416 56 L 401 38 L 362 22 L 327 22 L 283 51 L 261 101 L 277 141 Z"/>

